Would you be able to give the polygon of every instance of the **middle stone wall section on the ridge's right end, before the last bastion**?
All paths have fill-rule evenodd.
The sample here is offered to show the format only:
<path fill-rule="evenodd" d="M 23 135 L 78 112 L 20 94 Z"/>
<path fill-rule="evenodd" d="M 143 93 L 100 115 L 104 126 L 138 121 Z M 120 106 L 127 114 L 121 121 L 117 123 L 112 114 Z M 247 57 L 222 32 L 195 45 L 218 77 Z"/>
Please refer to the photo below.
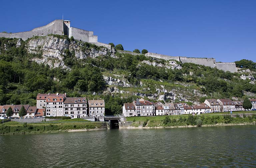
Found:
<path fill-rule="evenodd" d="M 215 67 L 215 58 L 187 58 L 187 57 L 180 57 L 181 63 L 194 63 L 204 66 L 210 66 L 212 68 Z"/>

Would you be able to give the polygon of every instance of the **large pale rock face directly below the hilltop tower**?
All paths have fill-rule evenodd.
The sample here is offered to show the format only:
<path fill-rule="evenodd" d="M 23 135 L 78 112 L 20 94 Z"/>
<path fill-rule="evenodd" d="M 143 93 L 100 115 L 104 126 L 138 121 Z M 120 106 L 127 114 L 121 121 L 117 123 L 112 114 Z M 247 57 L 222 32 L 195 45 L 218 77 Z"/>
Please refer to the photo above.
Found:
<path fill-rule="evenodd" d="M 18 45 L 18 43 L 17 43 Z M 33 58 L 37 63 L 48 64 L 50 67 L 59 67 L 69 69 L 63 62 L 66 49 L 75 53 L 75 57 L 79 59 L 110 54 L 114 56 L 112 50 L 105 47 L 100 47 L 99 50 L 95 48 L 84 49 L 83 42 L 69 41 L 65 38 L 58 38 L 54 36 L 46 36 L 40 38 L 32 38 L 27 43 L 27 50 L 29 53 L 41 54 L 40 58 Z"/>

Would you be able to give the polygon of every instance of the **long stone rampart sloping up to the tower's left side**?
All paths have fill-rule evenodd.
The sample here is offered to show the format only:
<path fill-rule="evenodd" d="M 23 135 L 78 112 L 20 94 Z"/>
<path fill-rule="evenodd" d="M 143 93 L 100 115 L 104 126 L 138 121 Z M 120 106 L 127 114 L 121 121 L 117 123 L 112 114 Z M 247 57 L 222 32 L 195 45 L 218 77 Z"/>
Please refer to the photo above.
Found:
<path fill-rule="evenodd" d="M 35 28 L 28 32 L 0 33 L 0 37 L 27 40 L 34 36 L 47 36 L 49 34 L 64 35 L 63 20 L 55 20 L 45 26 Z"/>

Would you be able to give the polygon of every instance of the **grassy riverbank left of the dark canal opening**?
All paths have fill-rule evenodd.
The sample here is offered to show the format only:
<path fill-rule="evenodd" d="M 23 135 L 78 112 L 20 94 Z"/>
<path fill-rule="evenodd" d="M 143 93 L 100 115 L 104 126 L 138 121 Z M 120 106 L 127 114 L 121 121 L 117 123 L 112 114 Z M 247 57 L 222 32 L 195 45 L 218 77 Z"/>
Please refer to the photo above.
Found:
<path fill-rule="evenodd" d="M 8 122 L 0 125 L 0 134 L 34 134 L 67 132 L 70 129 L 99 129 L 107 128 L 104 122 L 60 122 L 59 123 L 18 123 Z"/>

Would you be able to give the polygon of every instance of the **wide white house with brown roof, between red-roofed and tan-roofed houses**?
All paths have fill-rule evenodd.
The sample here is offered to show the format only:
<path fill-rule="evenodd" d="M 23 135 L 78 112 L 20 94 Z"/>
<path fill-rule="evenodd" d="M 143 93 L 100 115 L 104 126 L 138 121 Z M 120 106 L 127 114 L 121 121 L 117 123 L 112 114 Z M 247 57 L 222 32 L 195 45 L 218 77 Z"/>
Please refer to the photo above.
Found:
<path fill-rule="evenodd" d="M 85 97 L 67 97 L 64 99 L 64 115 L 71 118 L 87 117 L 87 101 Z"/>

